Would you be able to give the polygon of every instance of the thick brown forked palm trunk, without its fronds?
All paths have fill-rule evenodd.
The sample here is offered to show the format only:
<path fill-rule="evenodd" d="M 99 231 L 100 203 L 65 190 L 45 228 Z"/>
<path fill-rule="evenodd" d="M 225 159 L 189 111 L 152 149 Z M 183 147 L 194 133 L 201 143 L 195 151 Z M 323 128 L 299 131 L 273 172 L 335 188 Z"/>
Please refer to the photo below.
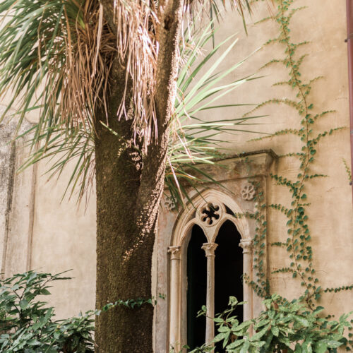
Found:
<path fill-rule="evenodd" d="M 114 29 L 113 0 L 101 2 Z M 132 117 L 120 120 L 116 117 L 124 96 L 126 74 L 118 58 L 112 69 L 109 114 L 97 112 L 95 117 L 97 309 L 117 299 L 152 296 L 152 250 L 164 187 L 169 120 L 176 94 L 183 3 L 160 1 L 157 136 L 145 155 L 140 155 L 133 144 Z M 127 106 L 130 101 L 127 96 Z M 152 319 L 153 307 L 148 304 L 133 310 L 119 306 L 102 313 L 96 320 L 96 352 L 152 352 Z"/>

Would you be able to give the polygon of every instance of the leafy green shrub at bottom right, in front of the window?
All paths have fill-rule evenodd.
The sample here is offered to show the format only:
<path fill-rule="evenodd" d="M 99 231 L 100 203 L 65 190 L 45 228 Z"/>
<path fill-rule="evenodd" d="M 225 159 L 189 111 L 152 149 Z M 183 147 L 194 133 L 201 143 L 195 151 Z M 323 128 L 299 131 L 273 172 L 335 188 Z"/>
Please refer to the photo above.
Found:
<path fill-rule="evenodd" d="M 325 353 L 337 352 L 338 347 L 350 350 L 345 338 L 352 329 L 348 318 L 342 315 L 338 321 L 323 318 L 323 307 L 313 311 L 299 301 L 286 301 L 278 295 L 265 299 L 263 311 L 257 318 L 240 323 L 234 316 L 238 305 L 235 297 L 229 298 L 229 309 L 214 318 L 218 334 L 215 342 L 222 342 L 227 352 L 239 353 Z M 206 315 L 205 310 L 200 314 Z M 212 345 L 204 345 L 192 351 L 214 352 Z"/>

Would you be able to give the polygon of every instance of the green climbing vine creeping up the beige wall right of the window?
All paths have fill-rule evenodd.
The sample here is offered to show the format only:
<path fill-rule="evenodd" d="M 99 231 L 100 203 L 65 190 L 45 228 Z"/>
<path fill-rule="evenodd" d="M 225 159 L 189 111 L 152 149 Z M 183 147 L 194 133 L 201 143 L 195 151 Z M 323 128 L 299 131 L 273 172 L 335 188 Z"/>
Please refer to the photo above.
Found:
<path fill-rule="evenodd" d="M 315 301 L 321 298 L 324 292 L 338 292 L 341 290 L 352 289 L 352 285 L 345 285 L 339 288 L 326 288 L 323 289 L 319 284 L 316 270 L 313 267 L 313 249 L 311 247 L 311 230 L 309 227 L 309 217 L 306 210 L 310 205 L 308 199 L 309 183 L 311 179 L 326 177 L 325 174 L 314 174 L 311 171 L 311 165 L 315 161 L 316 146 L 322 138 L 332 134 L 334 131 L 341 128 L 332 128 L 329 131 L 316 132 L 316 121 L 321 119 L 333 110 L 317 112 L 317 107 L 314 107 L 311 101 L 312 84 L 320 77 L 304 80 L 301 76 L 301 66 L 307 54 L 299 55 L 298 49 L 309 42 L 293 42 L 290 32 L 290 20 L 294 13 L 300 11 L 304 7 L 294 8 L 294 0 L 276 0 L 277 13 L 274 16 L 264 18 L 259 22 L 265 20 L 275 20 L 279 28 L 277 37 L 271 38 L 265 45 L 280 44 L 284 49 L 284 56 L 268 61 L 263 66 L 270 65 L 283 65 L 287 68 L 289 78 L 285 81 L 275 83 L 275 85 L 287 85 L 295 92 L 295 99 L 274 98 L 258 104 L 255 109 L 251 110 L 244 116 L 248 116 L 254 110 L 265 107 L 269 104 L 285 104 L 294 109 L 294 112 L 299 116 L 301 127 L 299 129 L 287 128 L 284 130 L 276 131 L 270 136 L 263 138 L 280 136 L 280 135 L 294 135 L 301 141 L 301 150 L 298 152 L 289 152 L 285 157 L 296 158 L 299 160 L 299 173 L 293 180 L 283 177 L 279 174 L 270 174 L 270 177 L 276 182 L 277 185 L 287 187 L 292 202 L 290 206 L 282 205 L 280 203 L 272 203 L 266 205 L 261 185 L 253 182 L 258 188 L 258 196 L 256 199 L 256 212 L 252 217 L 256 218 L 257 227 L 254 236 L 254 269 L 256 270 L 256 280 L 249 282 L 249 278 L 245 278 L 253 288 L 253 290 L 261 297 L 270 297 L 270 287 L 268 279 L 265 276 L 264 270 L 264 256 L 265 256 L 265 238 L 267 235 L 267 224 L 263 210 L 266 206 L 273 210 L 285 215 L 287 218 L 287 239 L 285 241 L 277 241 L 270 246 L 277 246 L 288 252 L 290 258 L 290 265 L 287 267 L 279 268 L 273 273 L 290 273 L 293 278 L 299 278 L 303 292 L 299 301 L 305 301 L 310 309 L 314 309 Z"/>

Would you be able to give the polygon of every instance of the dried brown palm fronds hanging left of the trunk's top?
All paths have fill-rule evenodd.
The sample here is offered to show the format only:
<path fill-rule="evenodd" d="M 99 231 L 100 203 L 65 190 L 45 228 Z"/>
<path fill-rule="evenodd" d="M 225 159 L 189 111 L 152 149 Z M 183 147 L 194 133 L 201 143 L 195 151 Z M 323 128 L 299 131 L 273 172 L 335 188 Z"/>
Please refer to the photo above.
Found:
<path fill-rule="evenodd" d="M 97 1 L 81 2 L 80 20 L 73 21 L 64 8 L 66 59 L 58 77 L 59 82 L 64 83 L 58 109 L 61 119 L 67 119 L 66 126 L 80 121 L 92 128 L 95 109 L 104 106 L 107 112 L 109 73 L 116 52 L 115 35 L 109 30 L 102 6 Z M 49 73 L 49 76 L 52 75 Z"/>

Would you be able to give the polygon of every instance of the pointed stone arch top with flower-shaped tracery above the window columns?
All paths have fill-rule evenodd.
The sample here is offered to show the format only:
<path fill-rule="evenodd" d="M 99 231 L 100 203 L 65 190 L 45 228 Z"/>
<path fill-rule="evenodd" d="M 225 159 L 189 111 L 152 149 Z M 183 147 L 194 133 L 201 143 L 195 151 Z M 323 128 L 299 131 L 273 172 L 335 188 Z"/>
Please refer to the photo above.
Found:
<path fill-rule="evenodd" d="M 227 195 L 227 193 L 215 189 L 207 189 L 196 195 L 192 199 L 192 204 L 188 203 L 186 209 L 181 211 L 177 219 L 172 233 L 171 246 L 182 246 L 193 225 L 198 225 L 203 229 L 208 243 L 214 243 L 220 227 L 226 220 L 234 223 L 241 235 L 241 239 L 249 239 L 249 222 L 246 217 L 229 215 L 225 206 L 232 210 L 234 214 L 244 213 L 244 210 L 234 201 L 234 198 Z M 207 217 L 208 213 L 214 213 L 217 217 L 213 217 L 211 220 L 210 217 Z"/>

